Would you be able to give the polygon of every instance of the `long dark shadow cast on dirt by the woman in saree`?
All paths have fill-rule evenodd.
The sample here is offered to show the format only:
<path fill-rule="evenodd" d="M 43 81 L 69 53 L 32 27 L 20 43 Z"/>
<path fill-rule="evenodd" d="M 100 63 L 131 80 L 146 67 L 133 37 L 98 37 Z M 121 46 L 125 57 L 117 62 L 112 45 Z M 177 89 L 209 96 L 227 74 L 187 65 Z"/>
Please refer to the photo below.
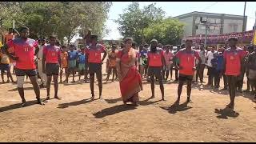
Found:
<path fill-rule="evenodd" d="M 113 107 L 109 107 L 104 110 L 98 111 L 93 115 L 95 118 L 104 118 L 108 115 L 118 114 L 118 113 L 121 113 L 122 111 L 135 110 L 135 109 L 136 109 L 136 106 L 129 105 L 129 104 L 118 105 L 118 106 L 113 106 Z"/>

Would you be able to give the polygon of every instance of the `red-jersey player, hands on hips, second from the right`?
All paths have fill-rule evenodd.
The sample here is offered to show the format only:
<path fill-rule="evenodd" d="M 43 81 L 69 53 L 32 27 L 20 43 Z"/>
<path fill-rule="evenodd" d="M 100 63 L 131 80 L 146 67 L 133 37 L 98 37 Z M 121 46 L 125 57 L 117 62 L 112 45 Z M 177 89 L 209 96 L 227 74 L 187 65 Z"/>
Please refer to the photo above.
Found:
<path fill-rule="evenodd" d="M 179 70 L 179 82 L 178 82 L 178 99 L 174 103 L 175 106 L 179 104 L 180 97 L 182 94 L 182 86 L 184 82 L 187 82 L 187 98 L 186 102 L 190 102 L 190 94 L 191 94 L 191 84 L 194 75 L 194 71 L 196 70 L 195 58 L 198 58 L 200 65 L 201 58 L 196 50 L 192 49 L 192 40 L 186 40 L 186 48 L 179 50 L 175 55 L 175 59 L 179 59 L 179 66 L 174 64 L 177 70 Z M 174 61 L 176 62 L 176 61 Z"/>

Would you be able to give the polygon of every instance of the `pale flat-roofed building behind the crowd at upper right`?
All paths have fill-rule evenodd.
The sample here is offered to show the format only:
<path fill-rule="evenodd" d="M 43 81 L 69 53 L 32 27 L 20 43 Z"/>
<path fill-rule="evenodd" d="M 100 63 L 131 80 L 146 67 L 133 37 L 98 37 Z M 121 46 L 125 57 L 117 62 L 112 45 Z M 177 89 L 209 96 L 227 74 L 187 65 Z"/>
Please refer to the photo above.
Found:
<path fill-rule="evenodd" d="M 243 16 L 231 14 L 214 14 L 194 11 L 188 14 L 182 14 L 177 17 L 180 22 L 184 22 L 184 37 L 206 34 L 206 26 L 201 23 L 207 21 L 210 23 L 208 34 L 229 34 L 242 32 Z M 246 30 L 247 16 L 245 17 Z"/>

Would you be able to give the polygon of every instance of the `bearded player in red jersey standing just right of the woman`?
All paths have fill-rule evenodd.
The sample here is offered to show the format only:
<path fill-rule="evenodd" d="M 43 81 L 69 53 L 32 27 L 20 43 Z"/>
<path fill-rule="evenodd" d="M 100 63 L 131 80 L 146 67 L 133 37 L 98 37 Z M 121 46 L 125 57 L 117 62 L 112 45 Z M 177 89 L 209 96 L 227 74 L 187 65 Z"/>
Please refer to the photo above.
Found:
<path fill-rule="evenodd" d="M 152 92 L 151 98 L 154 98 L 154 77 L 156 77 L 159 80 L 160 90 L 162 93 L 162 100 L 164 100 L 165 95 L 164 95 L 164 87 L 162 83 L 162 70 L 163 70 L 163 67 L 166 66 L 165 57 L 163 54 L 164 52 L 162 48 L 157 47 L 158 41 L 156 39 L 152 39 L 150 43 L 151 43 L 150 51 L 147 54 L 148 55 L 147 67 L 149 68 L 148 74 L 150 76 L 150 83 L 151 83 L 151 92 Z"/>

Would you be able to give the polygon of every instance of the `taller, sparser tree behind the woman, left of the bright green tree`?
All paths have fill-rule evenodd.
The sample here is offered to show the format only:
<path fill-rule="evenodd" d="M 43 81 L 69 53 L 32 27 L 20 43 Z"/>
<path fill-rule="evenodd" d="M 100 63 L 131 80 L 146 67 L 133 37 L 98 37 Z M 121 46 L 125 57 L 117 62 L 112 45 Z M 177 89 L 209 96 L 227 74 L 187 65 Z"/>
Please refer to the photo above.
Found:
<path fill-rule="evenodd" d="M 144 29 L 152 23 L 158 23 L 164 18 L 165 12 L 150 4 L 139 8 L 138 2 L 132 2 L 123 14 L 119 14 L 118 30 L 123 37 L 132 37 L 135 42 L 144 42 Z"/>

